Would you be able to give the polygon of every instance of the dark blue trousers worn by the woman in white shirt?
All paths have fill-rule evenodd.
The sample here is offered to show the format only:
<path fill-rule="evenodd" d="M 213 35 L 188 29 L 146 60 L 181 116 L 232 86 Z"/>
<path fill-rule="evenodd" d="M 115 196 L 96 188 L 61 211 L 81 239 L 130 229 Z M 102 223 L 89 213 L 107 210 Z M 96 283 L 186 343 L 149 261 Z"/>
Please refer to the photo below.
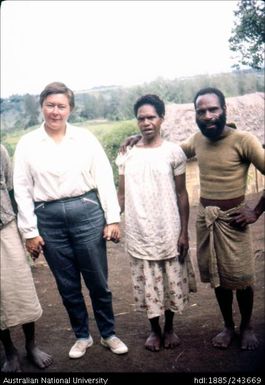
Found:
<path fill-rule="evenodd" d="M 115 334 L 103 239 L 105 217 L 96 193 L 90 191 L 78 198 L 36 202 L 35 213 L 45 242 L 44 255 L 76 337 L 89 336 L 81 274 L 89 290 L 100 335 L 107 338 Z"/>

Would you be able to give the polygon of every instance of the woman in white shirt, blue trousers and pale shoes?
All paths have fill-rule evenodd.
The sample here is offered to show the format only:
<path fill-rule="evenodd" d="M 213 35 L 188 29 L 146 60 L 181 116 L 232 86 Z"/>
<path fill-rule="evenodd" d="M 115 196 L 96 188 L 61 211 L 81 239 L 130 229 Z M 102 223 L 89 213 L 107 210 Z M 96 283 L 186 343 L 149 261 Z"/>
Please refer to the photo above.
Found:
<path fill-rule="evenodd" d="M 18 226 L 27 250 L 44 256 L 56 279 L 76 343 L 69 356 L 82 357 L 93 344 L 81 290 L 89 289 L 101 344 L 128 351 L 115 335 L 107 284 L 106 241 L 118 242 L 119 204 L 109 160 L 98 140 L 67 120 L 74 94 L 63 83 L 40 94 L 44 122 L 17 144 L 14 189 Z"/>

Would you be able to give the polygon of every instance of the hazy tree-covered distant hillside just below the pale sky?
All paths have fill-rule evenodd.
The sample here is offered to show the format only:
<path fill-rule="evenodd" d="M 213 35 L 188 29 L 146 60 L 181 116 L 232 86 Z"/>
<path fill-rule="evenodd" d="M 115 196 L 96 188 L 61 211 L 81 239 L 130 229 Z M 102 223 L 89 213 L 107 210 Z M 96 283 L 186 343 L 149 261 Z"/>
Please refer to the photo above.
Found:
<path fill-rule="evenodd" d="M 75 91 L 76 107 L 69 121 L 81 123 L 98 119 L 109 121 L 132 119 L 134 117 L 133 105 L 139 96 L 148 93 L 157 94 L 166 104 L 182 105 L 190 103 L 195 93 L 203 87 L 220 88 L 227 98 L 263 92 L 264 72 L 236 71 L 173 80 L 157 78 L 152 82 L 132 87 L 112 85 Z M 39 124 L 41 119 L 38 95 L 13 95 L 7 99 L 1 99 L 1 130 L 3 132 L 26 129 Z"/>

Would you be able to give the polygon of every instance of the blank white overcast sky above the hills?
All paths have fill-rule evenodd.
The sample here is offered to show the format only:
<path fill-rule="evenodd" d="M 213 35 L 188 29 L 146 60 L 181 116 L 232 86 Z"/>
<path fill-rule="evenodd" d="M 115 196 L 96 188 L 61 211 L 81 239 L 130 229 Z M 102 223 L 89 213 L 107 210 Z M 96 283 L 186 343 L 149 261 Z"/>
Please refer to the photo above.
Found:
<path fill-rule="evenodd" d="M 5 1 L 1 97 L 231 71 L 237 1 Z"/>

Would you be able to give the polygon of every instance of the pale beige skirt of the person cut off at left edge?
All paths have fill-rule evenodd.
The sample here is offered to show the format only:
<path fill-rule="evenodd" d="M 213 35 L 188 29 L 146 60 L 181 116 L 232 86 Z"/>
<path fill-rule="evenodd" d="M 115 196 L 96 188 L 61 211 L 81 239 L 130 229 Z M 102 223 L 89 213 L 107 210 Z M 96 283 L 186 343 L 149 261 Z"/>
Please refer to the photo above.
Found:
<path fill-rule="evenodd" d="M 0 329 L 37 321 L 42 308 L 16 220 L 1 234 Z"/>

